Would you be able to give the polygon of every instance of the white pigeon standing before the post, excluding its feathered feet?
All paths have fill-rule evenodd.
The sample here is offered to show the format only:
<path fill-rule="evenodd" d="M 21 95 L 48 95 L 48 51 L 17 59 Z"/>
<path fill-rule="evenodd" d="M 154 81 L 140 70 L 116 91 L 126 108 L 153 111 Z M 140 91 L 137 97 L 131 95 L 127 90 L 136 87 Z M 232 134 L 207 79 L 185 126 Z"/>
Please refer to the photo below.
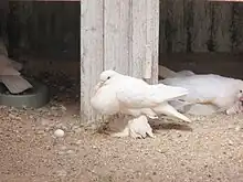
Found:
<path fill-rule="evenodd" d="M 168 104 L 169 100 L 186 96 L 188 90 L 163 84 L 149 85 L 142 79 L 108 69 L 101 74 L 96 94 L 91 99 L 95 110 L 103 115 L 118 113 L 155 118 L 163 114 L 183 121 L 191 120 Z"/>

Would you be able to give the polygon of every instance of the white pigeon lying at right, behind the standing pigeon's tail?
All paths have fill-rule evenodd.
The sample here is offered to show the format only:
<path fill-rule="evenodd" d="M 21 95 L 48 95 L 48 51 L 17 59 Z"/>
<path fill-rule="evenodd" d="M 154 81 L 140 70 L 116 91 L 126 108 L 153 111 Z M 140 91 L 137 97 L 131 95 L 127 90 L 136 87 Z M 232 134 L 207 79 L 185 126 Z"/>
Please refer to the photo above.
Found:
<path fill-rule="evenodd" d="M 230 115 L 242 111 L 243 81 L 214 74 L 194 74 L 190 71 L 177 74 L 160 66 L 160 71 L 162 69 L 166 72 L 160 72 L 159 75 L 166 79 L 159 83 L 189 90 L 182 99 L 170 101 L 180 111 L 194 115 L 211 115 L 219 111 L 226 111 Z"/>

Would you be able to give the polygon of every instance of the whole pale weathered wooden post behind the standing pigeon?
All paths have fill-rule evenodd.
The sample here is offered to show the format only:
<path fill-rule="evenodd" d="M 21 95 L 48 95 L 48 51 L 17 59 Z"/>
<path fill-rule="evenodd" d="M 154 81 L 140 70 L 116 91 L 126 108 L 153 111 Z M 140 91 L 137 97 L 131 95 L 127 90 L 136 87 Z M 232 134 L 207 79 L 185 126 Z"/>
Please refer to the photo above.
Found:
<path fill-rule="evenodd" d="M 103 23 L 104 22 L 104 23 Z M 81 117 L 99 117 L 89 105 L 104 69 L 158 82 L 159 0 L 81 2 Z"/>

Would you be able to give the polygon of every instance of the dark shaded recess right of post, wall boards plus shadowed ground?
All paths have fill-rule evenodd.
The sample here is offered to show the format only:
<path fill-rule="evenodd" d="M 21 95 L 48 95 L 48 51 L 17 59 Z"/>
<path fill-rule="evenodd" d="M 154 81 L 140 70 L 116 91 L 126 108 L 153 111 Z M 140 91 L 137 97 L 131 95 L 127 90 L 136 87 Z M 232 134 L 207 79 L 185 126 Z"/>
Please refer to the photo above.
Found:
<path fill-rule="evenodd" d="M 243 3 L 160 0 L 160 64 L 243 78 Z"/>

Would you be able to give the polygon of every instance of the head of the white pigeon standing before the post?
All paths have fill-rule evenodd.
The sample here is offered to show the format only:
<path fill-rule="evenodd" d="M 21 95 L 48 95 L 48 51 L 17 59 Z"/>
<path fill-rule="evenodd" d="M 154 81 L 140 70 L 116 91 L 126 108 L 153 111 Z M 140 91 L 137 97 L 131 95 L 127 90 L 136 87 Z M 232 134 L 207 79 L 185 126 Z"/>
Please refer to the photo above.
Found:
<path fill-rule="evenodd" d="M 113 69 L 107 69 L 107 71 L 102 72 L 99 75 L 99 82 L 96 85 L 96 90 L 104 85 L 108 85 L 110 82 L 114 81 L 114 77 L 117 75 L 119 75 L 119 73 Z"/>

